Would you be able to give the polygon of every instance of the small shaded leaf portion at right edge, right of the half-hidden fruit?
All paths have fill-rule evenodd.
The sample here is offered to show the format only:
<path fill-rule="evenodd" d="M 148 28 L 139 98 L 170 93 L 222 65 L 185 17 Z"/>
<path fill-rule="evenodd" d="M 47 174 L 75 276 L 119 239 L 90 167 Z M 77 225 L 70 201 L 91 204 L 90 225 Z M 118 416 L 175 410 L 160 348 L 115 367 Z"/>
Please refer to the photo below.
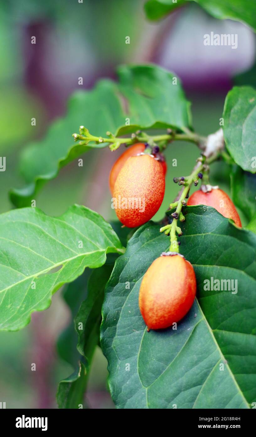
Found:
<path fill-rule="evenodd" d="M 251 220 L 256 213 L 256 174 L 243 171 L 239 166 L 234 165 L 230 178 L 233 202 L 242 210 L 246 218 Z"/>

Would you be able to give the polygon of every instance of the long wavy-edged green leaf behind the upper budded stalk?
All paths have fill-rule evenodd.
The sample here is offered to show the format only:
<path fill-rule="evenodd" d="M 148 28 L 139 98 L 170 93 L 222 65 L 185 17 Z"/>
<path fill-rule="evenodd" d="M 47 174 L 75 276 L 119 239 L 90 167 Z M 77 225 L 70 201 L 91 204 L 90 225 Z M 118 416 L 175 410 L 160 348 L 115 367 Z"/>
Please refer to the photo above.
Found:
<path fill-rule="evenodd" d="M 63 166 L 92 148 L 106 147 L 107 143 L 72 144 L 72 134 L 79 125 L 89 129 L 91 135 L 102 137 L 107 131 L 117 136 L 141 128 L 182 130 L 191 125 L 189 103 L 179 80 L 173 83 L 172 73 L 143 65 L 120 67 L 118 74 L 120 84 L 101 80 L 91 91 L 75 92 L 65 118 L 56 121 L 44 139 L 24 150 L 20 171 L 27 186 L 10 192 L 15 206 L 31 206 L 38 191 Z"/>

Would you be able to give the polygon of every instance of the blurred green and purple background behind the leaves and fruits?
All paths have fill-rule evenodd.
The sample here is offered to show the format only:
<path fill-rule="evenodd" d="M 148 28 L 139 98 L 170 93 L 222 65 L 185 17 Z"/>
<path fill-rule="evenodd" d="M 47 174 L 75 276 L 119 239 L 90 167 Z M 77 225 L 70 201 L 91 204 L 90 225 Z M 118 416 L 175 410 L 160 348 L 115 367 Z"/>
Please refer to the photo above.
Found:
<path fill-rule="evenodd" d="M 0 156 L 6 156 L 7 166 L 0 173 L 1 213 L 12 208 L 10 188 L 23 185 L 18 171 L 20 151 L 31 140 L 40 139 L 53 119 L 65 114 L 68 96 L 81 89 L 79 76 L 84 78 L 82 87 L 88 89 L 100 77 L 114 78 L 116 66 L 125 62 L 156 62 L 172 69 L 184 83 L 192 102 L 194 128 L 202 135 L 219 128 L 225 95 L 234 83 L 254 84 L 255 36 L 245 25 L 217 21 L 195 5 L 152 23 L 144 15 L 143 3 L 0 2 Z M 233 29 L 238 34 L 238 49 L 214 47 L 206 52 L 203 35 L 215 29 L 219 33 Z M 36 45 L 31 45 L 32 35 L 37 38 Z M 130 36 L 130 45 L 125 44 L 126 36 Z M 31 126 L 33 117 L 36 126 Z M 83 167 L 69 164 L 38 194 L 37 206 L 47 214 L 60 215 L 69 205 L 78 203 L 107 220 L 115 219 L 107 186 L 110 168 L 121 152 L 92 150 Z M 198 149 L 189 143 L 168 146 L 166 191 L 156 219 L 163 217 L 177 194 L 172 178 L 189 174 L 197 157 Z M 177 167 L 172 166 L 174 158 Z M 211 181 L 230 191 L 224 164 L 214 164 Z M 0 333 L 0 401 L 6 402 L 7 408 L 57 407 L 58 382 L 73 368 L 58 357 L 56 340 L 70 319 L 68 306 L 58 291 L 51 307 L 34 314 L 25 329 Z M 36 372 L 31 371 L 34 362 Z M 98 348 L 87 394 L 92 408 L 114 407 L 106 378 L 106 359 Z"/>

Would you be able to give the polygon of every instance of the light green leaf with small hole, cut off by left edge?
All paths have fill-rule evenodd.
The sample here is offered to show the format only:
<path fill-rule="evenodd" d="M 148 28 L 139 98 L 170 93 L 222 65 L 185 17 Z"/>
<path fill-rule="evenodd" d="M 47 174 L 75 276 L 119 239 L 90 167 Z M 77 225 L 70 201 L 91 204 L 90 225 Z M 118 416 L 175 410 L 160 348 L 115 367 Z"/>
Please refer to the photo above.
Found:
<path fill-rule="evenodd" d="M 49 307 L 61 285 L 85 267 L 104 264 L 106 253 L 124 251 L 111 226 L 79 205 L 60 217 L 36 208 L 2 214 L 0 241 L 0 329 L 5 330 L 27 325 L 32 312 Z"/>

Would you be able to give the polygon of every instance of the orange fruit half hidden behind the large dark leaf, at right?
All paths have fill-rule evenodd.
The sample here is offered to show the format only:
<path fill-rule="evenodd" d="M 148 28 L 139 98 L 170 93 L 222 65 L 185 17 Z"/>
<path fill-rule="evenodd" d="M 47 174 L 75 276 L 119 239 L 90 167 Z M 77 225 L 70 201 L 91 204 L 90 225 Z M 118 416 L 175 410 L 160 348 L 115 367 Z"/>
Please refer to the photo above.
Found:
<path fill-rule="evenodd" d="M 224 205 L 221 206 L 222 202 Z M 242 223 L 236 207 L 233 204 L 231 198 L 225 191 L 219 188 L 213 188 L 209 193 L 204 193 L 201 190 L 195 191 L 187 201 L 187 205 L 207 205 L 215 208 L 220 214 L 226 218 L 232 218 L 235 224 L 242 228 Z"/>

